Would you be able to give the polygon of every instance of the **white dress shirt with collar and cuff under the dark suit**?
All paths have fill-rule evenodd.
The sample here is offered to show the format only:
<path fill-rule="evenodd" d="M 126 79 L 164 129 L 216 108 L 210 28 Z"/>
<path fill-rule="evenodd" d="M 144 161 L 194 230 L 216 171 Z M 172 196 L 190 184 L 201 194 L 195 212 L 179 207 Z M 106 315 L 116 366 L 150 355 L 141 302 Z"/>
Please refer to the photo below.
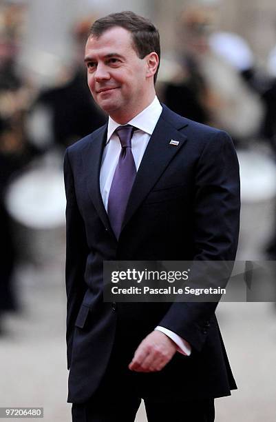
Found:
<path fill-rule="evenodd" d="M 147 148 L 147 144 L 149 143 L 151 134 L 156 127 L 156 123 L 158 122 L 161 112 L 162 106 L 158 101 L 158 98 L 155 97 L 147 108 L 137 114 L 134 119 L 131 119 L 128 123 L 126 123 L 138 128 L 131 138 L 131 150 L 134 156 L 136 170 L 139 168 L 145 149 Z M 121 150 L 118 135 L 114 133 L 118 126 L 120 126 L 120 124 L 116 123 L 116 121 L 109 117 L 107 143 L 105 145 L 105 149 L 103 150 L 103 159 L 100 167 L 100 193 L 103 198 L 105 210 L 107 210 L 109 191 Z M 160 327 L 159 325 L 156 327 L 156 330 L 163 332 L 171 340 L 173 340 L 174 343 L 178 345 L 178 352 L 188 356 L 191 354 L 191 345 L 182 339 L 182 337 L 178 336 L 178 334 L 168 330 L 167 328 Z"/>

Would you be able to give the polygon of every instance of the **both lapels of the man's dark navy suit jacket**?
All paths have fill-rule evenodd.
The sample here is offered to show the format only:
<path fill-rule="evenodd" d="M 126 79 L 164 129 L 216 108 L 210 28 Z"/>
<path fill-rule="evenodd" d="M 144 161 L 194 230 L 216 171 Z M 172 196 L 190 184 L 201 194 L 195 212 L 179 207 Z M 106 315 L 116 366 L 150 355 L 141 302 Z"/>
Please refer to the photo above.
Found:
<path fill-rule="evenodd" d="M 182 145 L 184 145 L 187 137 L 178 130 L 187 124 L 186 119 L 179 117 L 177 114 L 171 112 L 166 106 L 163 106 L 162 114 L 151 135 L 151 139 L 149 140 L 147 149 L 145 150 L 145 154 L 140 163 L 134 186 L 131 190 L 123 228 L 129 219 L 131 219 L 134 212 L 136 212 L 140 203 L 145 199 L 151 188 L 153 188 L 153 185 L 158 181 L 158 178 L 167 168 L 171 159 L 173 159 L 180 148 L 182 148 Z M 113 232 L 100 194 L 100 165 L 106 137 L 107 123 L 103 128 L 98 130 L 91 141 L 87 143 L 86 148 L 84 148 L 83 168 L 87 172 L 86 183 L 89 197 L 105 227 L 109 228 L 110 232 Z M 169 143 L 172 139 L 178 141 L 178 145 L 170 145 Z M 115 235 L 114 239 L 116 239 Z"/>

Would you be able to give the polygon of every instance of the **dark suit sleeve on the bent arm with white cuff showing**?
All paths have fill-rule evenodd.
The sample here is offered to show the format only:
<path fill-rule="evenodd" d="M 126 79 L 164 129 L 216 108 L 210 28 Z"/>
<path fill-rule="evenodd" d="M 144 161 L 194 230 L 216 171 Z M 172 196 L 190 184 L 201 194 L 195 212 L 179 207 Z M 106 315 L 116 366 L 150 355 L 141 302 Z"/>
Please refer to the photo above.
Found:
<path fill-rule="evenodd" d="M 195 169 L 194 193 L 192 267 L 196 261 L 222 261 L 220 269 L 230 277 L 240 227 L 240 174 L 233 142 L 225 132 L 206 143 Z M 213 283 L 210 273 L 204 273 L 206 285 Z M 173 303 L 159 325 L 200 352 L 216 306 L 217 302 Z"/>

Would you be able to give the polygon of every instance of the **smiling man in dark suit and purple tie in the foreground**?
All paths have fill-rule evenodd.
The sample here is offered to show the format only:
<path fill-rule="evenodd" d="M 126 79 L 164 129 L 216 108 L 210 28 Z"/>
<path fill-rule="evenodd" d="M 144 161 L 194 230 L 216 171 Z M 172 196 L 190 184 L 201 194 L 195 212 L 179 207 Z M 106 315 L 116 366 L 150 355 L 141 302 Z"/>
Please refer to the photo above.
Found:
<path fill-rule="evenodd" d="M 134 421 L 141 398 L 149 422 L 211 422 L 236 388 L 217 303 L 103 301 L 103 261 L 235 259 L 233 143 L 160 105 L 159 59 L 158 30 L 132 12 L 90 30 L 88 85 L 109 121 L 65 153 L 74 422 Z"/>

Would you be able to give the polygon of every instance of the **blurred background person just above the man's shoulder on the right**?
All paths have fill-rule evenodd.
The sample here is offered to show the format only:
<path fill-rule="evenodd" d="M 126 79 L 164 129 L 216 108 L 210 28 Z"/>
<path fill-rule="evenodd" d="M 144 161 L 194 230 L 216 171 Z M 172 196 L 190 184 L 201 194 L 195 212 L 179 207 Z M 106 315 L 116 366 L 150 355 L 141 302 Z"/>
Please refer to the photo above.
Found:
<path fill-rule="evenodd" d="M 206 39 L 209 18 L 207 11 L 200 6 L 191 6 L 183 12 L 179 26 L 176 27 L 180 69 L 164 87 L 164 102 L 167 106 L 200 123 L 211 121 L 207 106 L 209 87 L 200 63 L 201 55 L 208 50 Z"/>

